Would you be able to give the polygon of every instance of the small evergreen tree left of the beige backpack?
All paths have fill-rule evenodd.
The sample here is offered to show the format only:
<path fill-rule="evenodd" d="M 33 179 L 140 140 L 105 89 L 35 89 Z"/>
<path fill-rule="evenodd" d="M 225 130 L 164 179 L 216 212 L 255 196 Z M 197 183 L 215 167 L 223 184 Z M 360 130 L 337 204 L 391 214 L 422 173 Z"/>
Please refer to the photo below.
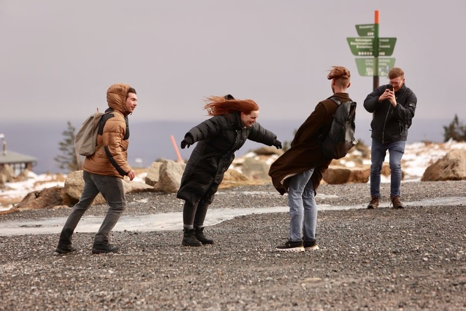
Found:
<path fill-rule="evenodd" d="M 74 148 L 75 133 L 76 129 L 68 121 L 67 129 L 62 132 L 64 139 L 58 143 L 58 149 L 62 154 L 54 158 L 58 162 L 59 168 L 70 172 L 78 171 L 82 166 L 81 156 L 76 153 L 76 149 Z"/>

